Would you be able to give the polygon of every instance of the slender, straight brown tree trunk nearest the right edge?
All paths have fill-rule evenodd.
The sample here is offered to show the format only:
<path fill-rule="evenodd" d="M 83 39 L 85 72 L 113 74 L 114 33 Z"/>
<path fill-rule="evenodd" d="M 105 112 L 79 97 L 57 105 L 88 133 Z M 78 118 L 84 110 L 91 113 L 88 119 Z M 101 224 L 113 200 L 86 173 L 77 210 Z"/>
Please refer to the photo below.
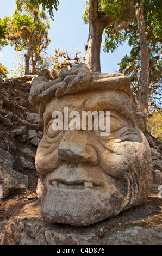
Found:
<path fill-rule="evenodd" d="M 139 29 L 139 40 L 140 40 L 140 51 L 141 51 L 141 74 L 140 74 L 140 90 L 138 101 L 141 110 L 146 113 L 148 110 L 148 97 L 149 97 L 149 52 L 148 44 L 146 39 L 145 31 L 145 20 L 144 20 L 144 0 L 141 5 L 139 1 L 136 2 L 136 20 L 138 22 Z M 146 120 L 145 120 L 146 123 Z"/>

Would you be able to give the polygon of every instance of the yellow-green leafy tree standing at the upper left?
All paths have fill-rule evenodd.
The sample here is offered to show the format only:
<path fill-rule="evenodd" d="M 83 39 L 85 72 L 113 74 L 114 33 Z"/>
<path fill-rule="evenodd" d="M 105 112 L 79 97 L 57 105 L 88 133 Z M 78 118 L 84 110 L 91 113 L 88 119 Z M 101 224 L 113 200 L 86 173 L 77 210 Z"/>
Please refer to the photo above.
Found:
<path fill-rule="evenodd" d="M 25 74 L 35 71 L 41 53 L 51 40 L 48 38 L 49 21 L 45 11 L 30 6 L 27 0 L 16 0 L 17 8 L 11 18 L 4 17 L 7 24 L 7 38 L 16 51 L 23 51 Z"/>

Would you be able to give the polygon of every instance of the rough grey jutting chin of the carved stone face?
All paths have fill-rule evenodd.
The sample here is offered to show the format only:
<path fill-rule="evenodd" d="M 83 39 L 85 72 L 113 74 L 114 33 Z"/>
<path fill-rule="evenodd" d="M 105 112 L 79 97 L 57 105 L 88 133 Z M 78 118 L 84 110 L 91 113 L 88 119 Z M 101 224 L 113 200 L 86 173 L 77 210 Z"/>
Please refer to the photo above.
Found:
<path fill-rule="evenodd" d="M 73 188 L 50 186 L 42 202 L 43 218 L 51 223 L 82 226 L 119 214 L 123 197 L 114 186 L 85 183 Z"/>

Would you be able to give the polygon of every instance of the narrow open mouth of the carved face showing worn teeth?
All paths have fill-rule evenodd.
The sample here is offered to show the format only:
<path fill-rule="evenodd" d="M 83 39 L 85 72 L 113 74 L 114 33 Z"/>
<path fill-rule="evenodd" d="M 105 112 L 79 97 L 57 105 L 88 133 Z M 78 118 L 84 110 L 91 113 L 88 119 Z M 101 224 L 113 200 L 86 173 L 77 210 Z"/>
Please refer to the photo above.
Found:
<path fill-rule="evenodd" d="M 93 189 L 99 190 L 104 188 L 104 184 L 94 181 L 74 181 L 74 182 L 67 182 L 65 180 L 51 180 L 49 181 L 52 187 L 58 187 L 65 190 L 84 190 L 84 189 Z"/>

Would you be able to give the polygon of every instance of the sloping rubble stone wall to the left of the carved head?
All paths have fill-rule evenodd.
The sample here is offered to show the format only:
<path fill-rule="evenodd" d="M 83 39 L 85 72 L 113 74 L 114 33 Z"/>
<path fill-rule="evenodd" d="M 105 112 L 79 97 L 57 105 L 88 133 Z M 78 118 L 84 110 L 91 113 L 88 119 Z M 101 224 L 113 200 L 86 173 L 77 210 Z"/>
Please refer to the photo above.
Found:
<path fill-rule="evenodd" d="M 36 191 L 35 153 L 43 132 L 38 114 L 28 102 L 32 79 L 33 76 L 24 76 L 0 86 L 0 185 L 3 198 L 26 189 Z"/>

